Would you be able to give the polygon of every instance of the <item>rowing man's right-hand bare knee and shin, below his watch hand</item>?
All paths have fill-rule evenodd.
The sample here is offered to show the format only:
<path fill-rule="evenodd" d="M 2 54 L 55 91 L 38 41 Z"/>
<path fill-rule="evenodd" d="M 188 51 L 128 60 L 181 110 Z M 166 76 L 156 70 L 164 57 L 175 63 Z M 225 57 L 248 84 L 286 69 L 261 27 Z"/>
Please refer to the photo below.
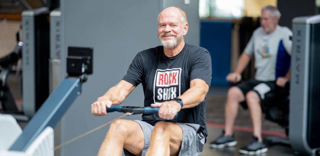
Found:
<path fill-rule="evenodd" d="M 182 143 L 182 129 L 175 123 L 159 121 L 151 132 L 146 156 L 178 155 Z"/>

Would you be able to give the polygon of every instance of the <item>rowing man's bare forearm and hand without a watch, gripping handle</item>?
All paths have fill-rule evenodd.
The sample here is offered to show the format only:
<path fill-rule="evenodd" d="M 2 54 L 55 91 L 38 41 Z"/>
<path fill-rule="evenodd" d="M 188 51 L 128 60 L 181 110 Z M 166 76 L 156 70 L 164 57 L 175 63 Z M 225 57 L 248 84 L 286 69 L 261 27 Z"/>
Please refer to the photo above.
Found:
<path fill-rule="evenodd" d="M 110 108 L 111 105 L 121 104 L 135 87 L 131 83 L 121 80 L 91 105 L 91 113 L 95 116 L 107 115 L 106 107 Z"/>

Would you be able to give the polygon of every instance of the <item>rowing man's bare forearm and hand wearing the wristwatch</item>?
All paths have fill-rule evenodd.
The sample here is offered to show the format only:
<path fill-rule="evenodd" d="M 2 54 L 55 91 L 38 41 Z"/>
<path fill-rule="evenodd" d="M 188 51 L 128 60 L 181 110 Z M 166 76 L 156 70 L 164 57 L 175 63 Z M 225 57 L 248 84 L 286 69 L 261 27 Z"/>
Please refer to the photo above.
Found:
<path fill-rule="evenodd" d="M 190 88 L 181 96 L 179 96 L 179 98 L 182 99 L 183 108 L 191 108 L 199 105 L 202 101 L 204 101 L 208 90 L 209 85 L 203 80 L 191 80 Z M 151 106 L 160 107 L 158 115 L 163 119 L 173 119 L 176 113 L 181 110 L 180 103 L 174 100 L 151 104 Z"/>

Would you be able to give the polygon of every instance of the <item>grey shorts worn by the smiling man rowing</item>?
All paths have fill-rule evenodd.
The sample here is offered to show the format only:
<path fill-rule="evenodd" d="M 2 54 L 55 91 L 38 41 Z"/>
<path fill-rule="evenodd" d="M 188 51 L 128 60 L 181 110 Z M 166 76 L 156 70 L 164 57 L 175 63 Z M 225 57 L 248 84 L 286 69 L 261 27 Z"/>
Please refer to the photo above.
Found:
<path fill-rule="evenodd" d="M 147 149 L 149 147 L 151 131 L 153 130 L 154 126 L 144 121 L 140 121 L 140 120 L 134 120 L 134 121 L 140 124 L 144 134 L 144 147 L 141 154 L 141 156 L 144 156 L 146 155 Z M 176 123 L 176 124 L 178 124 L 181 127 L 182 133 L 183 133 L 179 156 L 200 155 L 200 153 L 203 151 L 204 140 L 205 140 L 205 136 L 201 132 L 197 133 L 198 129 L 200 128 L 200 125 L 192 124 L 192 123 Z M 124 155 L 134 156 L 134 154 L 128 152 L 126 149 L 124 149 Z"/>

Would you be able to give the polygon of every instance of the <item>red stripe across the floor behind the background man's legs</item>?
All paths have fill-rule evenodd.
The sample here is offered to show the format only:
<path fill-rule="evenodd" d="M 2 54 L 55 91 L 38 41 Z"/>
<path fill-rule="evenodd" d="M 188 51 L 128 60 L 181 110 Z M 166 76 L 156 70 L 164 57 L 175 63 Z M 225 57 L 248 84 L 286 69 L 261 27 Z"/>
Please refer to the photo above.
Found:
<path fill-rule="evenodd" d="M 206 122 L 207 126 L 211 127 L 219 127 L 219 128 L 224 128 L 224 124 L 221 123 L 212 123 L 212 122 Z M 252 128 L 247 128 L 247 127 L 240 127 L 240 126 L 233 126 L 234 130 L 239 130 L 239 131 L 244 131 L 244 132 L 253 132 Z M 268 131 L 268 130 L 262 130 L 262 134 L 265 135 L 270 135 L 270 136 L 286 136 L 285 133 L 280 133 L 280 132 L 273 132 L 273 131 Z"/>

